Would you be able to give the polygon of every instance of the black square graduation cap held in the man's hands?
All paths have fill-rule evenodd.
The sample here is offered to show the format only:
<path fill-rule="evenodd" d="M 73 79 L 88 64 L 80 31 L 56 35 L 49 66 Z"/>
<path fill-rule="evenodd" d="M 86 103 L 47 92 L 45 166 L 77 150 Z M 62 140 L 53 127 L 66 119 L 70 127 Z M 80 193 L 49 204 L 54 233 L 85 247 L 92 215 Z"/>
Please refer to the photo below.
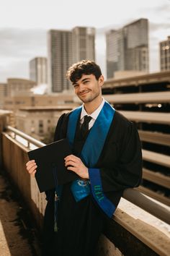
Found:
<path fill-rule="evenodd" d="M 71 155 L 67 139 L 58 140 L 28 152 L 30 160 L 35 160 L 37 164 L 35 179 L 40 192 L 79 179 L 77 174 L 67 170 L 64 161 L 67 155 Z"/>

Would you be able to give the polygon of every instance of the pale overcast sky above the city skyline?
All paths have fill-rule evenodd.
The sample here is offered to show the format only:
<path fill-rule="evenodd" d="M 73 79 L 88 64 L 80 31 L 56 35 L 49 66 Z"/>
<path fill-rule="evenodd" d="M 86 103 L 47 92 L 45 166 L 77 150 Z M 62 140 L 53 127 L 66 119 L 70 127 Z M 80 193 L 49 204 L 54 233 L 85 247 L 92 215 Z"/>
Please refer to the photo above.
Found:
<path fill-rule="evenodd" d="M 97 63 L 105 74 L 109 29 L 149 21 L 150 72 L 159 71 L 158 43 L 170 35 L 170 0 L 0 0 L 0 82 L 29 78 L 29 61 L 47 56 L 47 31 L 76 26 L 97 28 Z"/>

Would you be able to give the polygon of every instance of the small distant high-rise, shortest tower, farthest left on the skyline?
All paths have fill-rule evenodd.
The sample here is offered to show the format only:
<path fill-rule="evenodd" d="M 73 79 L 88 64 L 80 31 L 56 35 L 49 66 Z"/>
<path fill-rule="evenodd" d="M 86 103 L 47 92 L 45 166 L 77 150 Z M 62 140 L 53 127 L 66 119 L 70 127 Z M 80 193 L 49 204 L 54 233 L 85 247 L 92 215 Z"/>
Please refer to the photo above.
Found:
<path fill-rule="evenodd" d="M 30 80 L 37 82 L 37 85 L 47 84 L 47 58 L 36 57 L 30 60 Z"/>

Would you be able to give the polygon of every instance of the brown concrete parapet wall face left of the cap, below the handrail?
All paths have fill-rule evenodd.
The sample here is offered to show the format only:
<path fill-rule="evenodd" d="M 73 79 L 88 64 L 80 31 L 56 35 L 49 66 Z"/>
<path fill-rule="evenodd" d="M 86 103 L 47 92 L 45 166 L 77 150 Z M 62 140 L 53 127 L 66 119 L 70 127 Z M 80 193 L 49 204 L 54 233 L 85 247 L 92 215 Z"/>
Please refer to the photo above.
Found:
<path fill-rule="evenodd" d="M 29 161 L 27 149 L 7 134 L 2 135 L 2 159 L 5 171 L 30 207 L 37 225 L 42 227 L 45 210 L 45 194 L 39 192 L 35 178 L 27 173 L 25 164 Z"/>

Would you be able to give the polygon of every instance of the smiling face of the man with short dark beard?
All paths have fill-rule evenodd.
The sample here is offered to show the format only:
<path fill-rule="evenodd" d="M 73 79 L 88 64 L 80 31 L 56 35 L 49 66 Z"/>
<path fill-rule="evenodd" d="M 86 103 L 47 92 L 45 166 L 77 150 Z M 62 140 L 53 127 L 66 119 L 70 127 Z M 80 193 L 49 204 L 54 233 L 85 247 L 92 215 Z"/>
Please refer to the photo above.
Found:
<path fill-rule="evenodd" d="M 80 80 L 73 82 L 76 95 L 84 103 L 91 103 L 102 98 L 102 85 L 104 77 L 101 75 L 99 80 L 94 74 L 83 74 Z"/>

